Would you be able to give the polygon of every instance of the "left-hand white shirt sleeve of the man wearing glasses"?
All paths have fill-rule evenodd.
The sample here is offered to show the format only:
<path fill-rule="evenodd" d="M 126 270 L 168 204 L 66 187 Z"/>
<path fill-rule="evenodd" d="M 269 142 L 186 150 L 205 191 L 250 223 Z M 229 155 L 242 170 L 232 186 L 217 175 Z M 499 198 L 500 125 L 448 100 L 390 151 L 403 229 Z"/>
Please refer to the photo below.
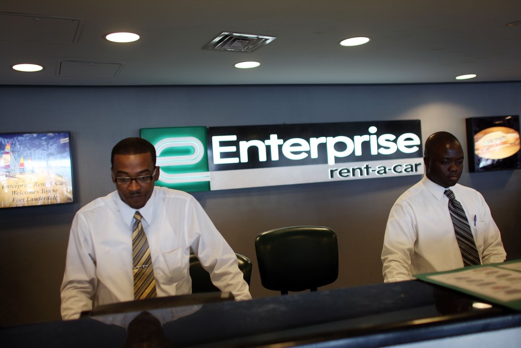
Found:
<path fill-rule="evenodd" d="M 97 278 L 94 252 L 88 224 L 78 214 L 72 221 L 67 247 L 64 279 L 61 283 L 61 318 L 77 319 L 92 309 Z"/>

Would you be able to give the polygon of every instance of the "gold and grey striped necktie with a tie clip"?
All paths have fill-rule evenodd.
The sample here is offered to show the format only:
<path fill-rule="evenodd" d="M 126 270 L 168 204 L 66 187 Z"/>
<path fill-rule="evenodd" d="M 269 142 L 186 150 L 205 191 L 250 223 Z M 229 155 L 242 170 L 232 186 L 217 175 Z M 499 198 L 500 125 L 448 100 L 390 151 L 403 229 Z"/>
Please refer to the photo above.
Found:
<path fill-rule="evenodd" d="M 134 227 L 132 229 L 132 259 L 134 267 L 134 299 L 156 297 L 156 282 L 152 268 L 152 257 L 146 240 L 141 213 L 134 214 Z"/>

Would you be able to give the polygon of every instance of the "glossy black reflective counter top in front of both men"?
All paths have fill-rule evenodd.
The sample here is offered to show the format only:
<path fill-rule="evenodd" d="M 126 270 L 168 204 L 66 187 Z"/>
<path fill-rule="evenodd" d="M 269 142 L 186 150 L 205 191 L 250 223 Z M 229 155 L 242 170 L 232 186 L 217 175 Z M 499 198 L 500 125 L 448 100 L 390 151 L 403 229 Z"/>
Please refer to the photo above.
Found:
<path fill-rule="evenodd" d="M 157 298 L 0 334 L 9 347 L 379 347 L 521 327 L 517 311 L 418 280 L 229 300 Z"/>

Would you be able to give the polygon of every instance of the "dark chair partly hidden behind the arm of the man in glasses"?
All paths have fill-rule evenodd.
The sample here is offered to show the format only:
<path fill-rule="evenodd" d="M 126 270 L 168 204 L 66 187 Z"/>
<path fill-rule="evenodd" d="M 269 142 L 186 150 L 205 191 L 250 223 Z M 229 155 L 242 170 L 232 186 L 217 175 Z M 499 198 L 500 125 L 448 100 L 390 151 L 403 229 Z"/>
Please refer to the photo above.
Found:
<path fill-rule="evenodd" d="M 239 269 L 244 275 L 244 280 L 250 286 L 250 279 L 252 277 L 252 261 L 244 255 L 237 255 L 239 261 Z M 190 253 L 190 278 L 192 278 L 192 294 L 201 292 L 216 292 L 219 291 L 212 283 L 210 274 L 201 266 L 201 262 L 197 259 L 194 253 Z"/>

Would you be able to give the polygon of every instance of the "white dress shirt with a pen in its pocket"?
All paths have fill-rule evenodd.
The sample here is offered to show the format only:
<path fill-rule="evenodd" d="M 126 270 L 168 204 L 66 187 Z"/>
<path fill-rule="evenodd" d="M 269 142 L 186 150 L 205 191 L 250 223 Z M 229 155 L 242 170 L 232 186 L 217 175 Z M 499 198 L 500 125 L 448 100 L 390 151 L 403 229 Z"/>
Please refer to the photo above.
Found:
<path fill-rule="evenodd" d="M 503 262 L 501 235 L 483 196 L 460 184 L 449 188 L 465 210 L 481 263 Z M 463 267 L 444 190 L 424 175 L 394 203 L 383 238 L 384 282 Z"/>

